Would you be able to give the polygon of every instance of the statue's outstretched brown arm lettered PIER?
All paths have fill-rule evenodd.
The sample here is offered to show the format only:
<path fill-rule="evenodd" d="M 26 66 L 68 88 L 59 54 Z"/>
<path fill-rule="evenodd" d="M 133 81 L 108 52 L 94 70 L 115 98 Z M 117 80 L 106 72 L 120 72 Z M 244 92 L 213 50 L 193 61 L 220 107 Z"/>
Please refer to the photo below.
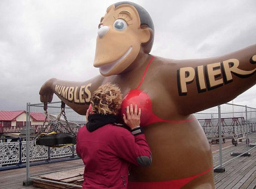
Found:
<path fill-rule="evenodd" d="M 256 84 L 256 45 L 228 55 L 175 64 L 180 113 L 190 114 L 236 98 Z"/>

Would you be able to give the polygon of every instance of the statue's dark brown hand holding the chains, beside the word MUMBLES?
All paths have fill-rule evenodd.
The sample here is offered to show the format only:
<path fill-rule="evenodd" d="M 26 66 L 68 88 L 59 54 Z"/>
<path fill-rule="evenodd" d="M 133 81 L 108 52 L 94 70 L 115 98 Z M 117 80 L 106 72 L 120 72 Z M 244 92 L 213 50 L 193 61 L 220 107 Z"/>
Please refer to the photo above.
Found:
<path fill-rule="evenodd" d="M 54 93 L 54 81 L 56 80 L 57 79 L 55 78 L 49 79 L 42 85 L 39 91 L 41 102 L 44 102 L 44 103 L 52 102 L 53 93 Z"/>

